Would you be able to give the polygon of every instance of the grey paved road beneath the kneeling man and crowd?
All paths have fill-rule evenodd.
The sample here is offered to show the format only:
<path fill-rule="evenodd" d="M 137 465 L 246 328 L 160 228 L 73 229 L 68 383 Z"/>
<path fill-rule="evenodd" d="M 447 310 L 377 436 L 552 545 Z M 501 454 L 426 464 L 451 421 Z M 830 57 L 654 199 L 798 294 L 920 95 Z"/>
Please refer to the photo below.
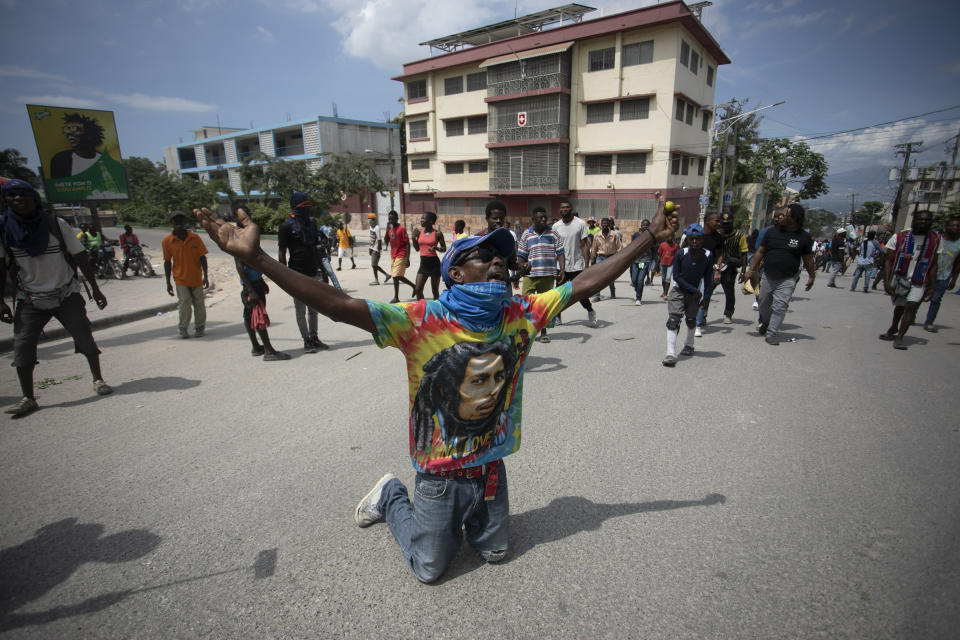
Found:
<path fill-rule="evenodd" d="M 736 324 L 711 324 L 673 370 L 659 298 L 599 303 L 598 329 L 568 310 L 529 359 L 508 561 L 464 549 L 435 585 L 384 525 L 352 520 L 381 473 L 413 478 L 398 352 L 322 320 L 333 348 L 300 353 L 279 291 L 288 362 L 249 356 L 236 296 L 202 340 L 177 339 L 169 315 L 99 331 L 110 397 L 49 343 L 43 409 L 0 419 L 0 631 L 955 637 L 960 296 L 947 328 L 897 352 L 876 339 L 885 296 L 824 285 L 793 302 L 796 342 L 764 344 L 741 298 Z M 0 401 L 16 396 L 7 369 Z"/>

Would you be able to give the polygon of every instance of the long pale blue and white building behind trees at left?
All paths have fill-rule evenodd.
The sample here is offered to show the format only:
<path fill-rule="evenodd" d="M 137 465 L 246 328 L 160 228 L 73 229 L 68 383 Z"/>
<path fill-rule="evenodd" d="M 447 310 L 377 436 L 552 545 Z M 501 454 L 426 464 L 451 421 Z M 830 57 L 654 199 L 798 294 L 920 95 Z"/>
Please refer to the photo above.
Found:
<path fill-rule="evenodd" d="M 206 182 L 211 172 L 225 170 L 230 187 L 242 193 L 239 168 L 245 158 L 255 153 L 306 162 L 313 168 L 323 163 L 324 154 L 350 152 L 373 160 L 377 175 L 391 187 L 389 197 L 374 201 L 377 202 L 372 205 L 374 211 L 384 214 L 385 219 L 388 208 L 397 198 L 395 191 L 401 173 L 400 134 L 396 124 L 316 116 L 260 129 L 202 127 L 193 134 L 192 142 L 164 149 L 164 163 L 171 173 Z M 338 209 L 354 213 L 371 210 L 369 202 L 362 206 L 363 211 L 359 199 L 349 198 Z"/>

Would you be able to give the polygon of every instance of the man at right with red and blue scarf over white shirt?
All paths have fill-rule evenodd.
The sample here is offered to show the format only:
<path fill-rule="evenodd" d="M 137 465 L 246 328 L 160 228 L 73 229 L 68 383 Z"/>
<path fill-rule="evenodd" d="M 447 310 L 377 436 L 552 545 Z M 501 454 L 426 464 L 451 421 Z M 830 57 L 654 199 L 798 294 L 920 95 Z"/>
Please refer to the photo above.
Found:
<path fill-rule="evenodd" d="M 890 236 L 887 241 L 886 280 L 883 285 L 893 298 L 893 322 L 881 340 L 893 342 L 894 349 L 905 350 L 903 337 L 917 317 L 921 302 L 933 296 L 937 279 L 937 254 L 940 235 L 930 229 L 933 214 L 927 210 L 913 214 L 913 226 Z"/>

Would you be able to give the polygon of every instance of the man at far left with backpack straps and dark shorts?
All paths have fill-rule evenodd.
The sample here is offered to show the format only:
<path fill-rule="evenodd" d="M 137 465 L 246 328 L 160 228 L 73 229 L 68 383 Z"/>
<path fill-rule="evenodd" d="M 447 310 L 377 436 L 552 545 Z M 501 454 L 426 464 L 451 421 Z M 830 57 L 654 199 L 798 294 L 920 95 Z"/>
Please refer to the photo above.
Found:
<path fill-rule="evenodd" d="M 0 224 L 0 321 L 13 323 L 13 364 L 23 393 L 23 398 L 6 413 L 18 417 L 39 408 L 34 397 L 33 370 L 37 364 L 37 342 L 50 318 L 60 321 L 73 337 L 77 353 L 87 357 L 97 395 L 112 393 L 100 371 L 100 350 L 93 340 L 80 295 L 78 267 L 90 283 L 97 307 L 106 307 L 107 299 L 97 286 L 83 245 L 64 220 L 43 210 L 40 194 L 30 183 L 10 180 L 0 188 L 0 194 L 5 207 Z M 14 286 L 14 311 L 2 299 L 8 270 Z"/>

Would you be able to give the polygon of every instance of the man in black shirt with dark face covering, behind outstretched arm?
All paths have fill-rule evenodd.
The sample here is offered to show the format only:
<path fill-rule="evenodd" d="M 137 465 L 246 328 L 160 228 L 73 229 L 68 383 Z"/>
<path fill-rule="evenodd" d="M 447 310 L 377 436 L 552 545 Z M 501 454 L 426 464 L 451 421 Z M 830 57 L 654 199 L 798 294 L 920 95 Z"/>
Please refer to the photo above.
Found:
<path fill-rule="evenodd" d="M 277 244 L 280 247 L 280 264 L 305 276 L 317 279 L 317 225 L 310 217 L 310 200 L 302 191 L 294 191 L 290 196 L 290 217 L 283 221 L 277 232 Z M 290 261 L 287 262 L 287 251 Z M 317 337 L 317 311 L 306 304 L 293 299 L 293 310 L 297 316 L 297 327 L 303 338 L 303 350 L 306 353 L 326 351 L 330 347 Z"/>

